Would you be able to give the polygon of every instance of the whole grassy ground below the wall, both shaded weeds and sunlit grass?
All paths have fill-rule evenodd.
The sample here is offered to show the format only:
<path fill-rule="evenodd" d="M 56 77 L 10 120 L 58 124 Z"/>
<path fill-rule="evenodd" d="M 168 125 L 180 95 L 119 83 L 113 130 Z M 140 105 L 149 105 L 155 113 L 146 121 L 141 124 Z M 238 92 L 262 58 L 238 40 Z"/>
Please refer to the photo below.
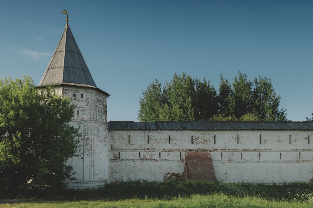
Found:
<path fill-rule="evenodd" d="M 312 207 L 313 184 L 126 182 L 4 199 L 0 207 Z"/>

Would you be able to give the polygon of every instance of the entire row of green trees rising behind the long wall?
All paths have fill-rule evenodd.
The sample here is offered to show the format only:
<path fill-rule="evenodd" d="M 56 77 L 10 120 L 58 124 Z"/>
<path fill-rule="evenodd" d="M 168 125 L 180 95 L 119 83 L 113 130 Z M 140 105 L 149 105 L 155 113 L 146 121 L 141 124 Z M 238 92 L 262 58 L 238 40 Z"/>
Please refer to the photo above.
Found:
<path fill-rule="evenodd" d="M 155 79 L 142 91 L 138 119 L 156 121 L 285 121 L 271 79 L 254 78 L 238 72 L 233 82 L 221 75 L 218 92 L 203 78 L 173 76 L 164 86 Z"/>

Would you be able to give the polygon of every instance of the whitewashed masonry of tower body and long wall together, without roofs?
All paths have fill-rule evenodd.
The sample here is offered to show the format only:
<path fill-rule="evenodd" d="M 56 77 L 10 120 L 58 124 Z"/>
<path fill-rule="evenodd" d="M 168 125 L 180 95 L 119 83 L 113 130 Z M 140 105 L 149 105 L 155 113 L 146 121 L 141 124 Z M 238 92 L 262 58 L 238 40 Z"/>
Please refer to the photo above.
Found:
<path fill-rule="evenodd" d="M 56 90 L 76 105 L 71 124 L 80 126 L 82 133 L 78 156 L 68 160 L 76 172 L 70 187 L 137 180 L 284 183 L 312 179 L 312 131 L 108 130 L 104 94 L 84 87 Z"/>

